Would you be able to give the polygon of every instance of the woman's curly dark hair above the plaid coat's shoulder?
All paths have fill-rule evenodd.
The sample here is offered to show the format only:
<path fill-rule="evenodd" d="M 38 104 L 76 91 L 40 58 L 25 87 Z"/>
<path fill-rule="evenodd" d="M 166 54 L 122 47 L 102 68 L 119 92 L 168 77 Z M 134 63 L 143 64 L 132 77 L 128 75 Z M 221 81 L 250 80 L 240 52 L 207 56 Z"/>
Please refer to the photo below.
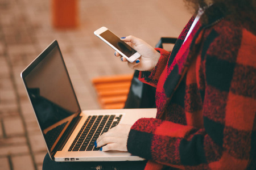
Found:
<path fill-rule="evenodd" d="M 197 14 L 199 8 L 207 7 L 205 0 L 184 0 L 189 8 Z M 256 23 L 256 0 L 212 0 L 214 5 L 224 14 L 232 15 L 233 19 L 242 22 L 249 19 L 250 22 Z M 214 11 L 213 11 L 214 12 Z M 205 18 L 205 21 L 207 18 Z"/>

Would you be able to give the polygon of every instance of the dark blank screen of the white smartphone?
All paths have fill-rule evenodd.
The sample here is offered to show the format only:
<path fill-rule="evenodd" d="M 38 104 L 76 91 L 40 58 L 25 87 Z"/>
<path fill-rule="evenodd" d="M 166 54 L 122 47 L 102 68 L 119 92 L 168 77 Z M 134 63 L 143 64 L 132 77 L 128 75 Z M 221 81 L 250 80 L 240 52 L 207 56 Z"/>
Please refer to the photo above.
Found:
<path fill-rule="evenodd" d="M 127 57 L 131 57 L 136 53 L 136 51 L 126 44 L 126 42 L 121 41 L 118 36 L 114 35 L 114 33 L 109 30 L 101 33 L 100 36 L 112 44 L 115 48 L 120 50 Z"/>

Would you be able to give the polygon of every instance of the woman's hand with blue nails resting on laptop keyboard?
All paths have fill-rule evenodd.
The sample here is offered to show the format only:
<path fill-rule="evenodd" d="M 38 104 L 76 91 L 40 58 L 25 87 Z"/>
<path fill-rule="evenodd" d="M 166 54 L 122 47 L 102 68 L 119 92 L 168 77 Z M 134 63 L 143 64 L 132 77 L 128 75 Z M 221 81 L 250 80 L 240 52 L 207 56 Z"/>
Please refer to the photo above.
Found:
<path fill-rule="evenodd" d="M 132 125 L 117 125 L 98 137 L 96 147 L 101 151 L 117 150 L 127 151 L 127 139 Z"/>

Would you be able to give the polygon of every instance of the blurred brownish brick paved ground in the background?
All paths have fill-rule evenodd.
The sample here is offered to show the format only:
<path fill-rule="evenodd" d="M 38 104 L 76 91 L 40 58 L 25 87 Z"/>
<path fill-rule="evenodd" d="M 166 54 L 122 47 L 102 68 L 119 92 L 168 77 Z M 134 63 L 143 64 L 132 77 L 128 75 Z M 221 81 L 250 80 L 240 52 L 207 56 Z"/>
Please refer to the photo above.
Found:
<path fill-rule="evenodd" d="M 105 25 L 154 46 L 177 37 L 189 18 L 180 0 L 79 1 L 80 25 L 55 29 L 51 1 L 0 0 L 0 169 L 42 169 L 46 154 L 20 72 L 57 39 L 82 109 L 99 109 L 91 79 L 129 74 L 114 51 L 93 35 Z"/>

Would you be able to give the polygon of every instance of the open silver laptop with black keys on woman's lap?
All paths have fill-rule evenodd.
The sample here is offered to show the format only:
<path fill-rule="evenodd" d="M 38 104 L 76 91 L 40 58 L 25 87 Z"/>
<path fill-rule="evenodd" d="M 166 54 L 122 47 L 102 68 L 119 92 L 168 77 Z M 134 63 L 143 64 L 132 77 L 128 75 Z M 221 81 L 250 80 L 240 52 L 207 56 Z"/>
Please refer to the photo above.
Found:
<path fill-rule="evenodd" d="M 81 111 L 57 41 L 21 73 L 48 154 L 56 162 L 144 160 L 129 152 L 102 152 L 96 139 L 118 124 L 155 117 L 156 109 Z"/>

